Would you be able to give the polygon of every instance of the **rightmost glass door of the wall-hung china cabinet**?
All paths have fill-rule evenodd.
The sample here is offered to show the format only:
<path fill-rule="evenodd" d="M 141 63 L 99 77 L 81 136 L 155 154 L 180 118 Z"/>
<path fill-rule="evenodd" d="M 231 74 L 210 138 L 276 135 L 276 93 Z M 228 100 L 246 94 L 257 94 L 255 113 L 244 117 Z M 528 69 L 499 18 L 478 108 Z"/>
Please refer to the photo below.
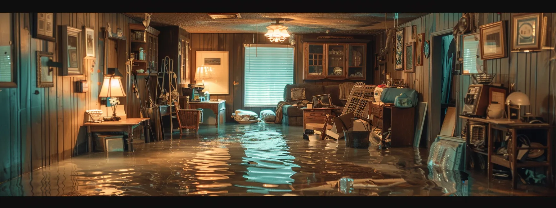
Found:
<path fill-rule="evenodd" d="M 347 78 L 365 79 L 365 44 L 349 44 L 347 56 Z"/>

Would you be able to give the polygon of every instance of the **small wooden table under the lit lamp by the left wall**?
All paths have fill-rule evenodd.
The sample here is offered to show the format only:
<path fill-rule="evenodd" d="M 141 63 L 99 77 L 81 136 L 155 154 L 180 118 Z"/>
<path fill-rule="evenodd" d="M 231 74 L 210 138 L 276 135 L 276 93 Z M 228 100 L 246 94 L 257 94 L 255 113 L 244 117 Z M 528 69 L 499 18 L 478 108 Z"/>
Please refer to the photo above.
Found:
<path fill-rule="evenodd" d="M 101 123 L 85 123 L 83 126 L 87 126 L 87 150 L 89 152 L 93 151 L 93 135 L 92 132 L 110 132 L 110 131 L 123 131 L 127 132 L 127 148 L 126 141 L 123 141 L 123 147 L 126 151 L 133 151 L 133 129 L 137 128 L 139 125 L 143 125 L 143 134 L 145 136 L 145 141 L 150 140 L 150 133 L 148 132 L 147 125 L 150 118 L 128 118 L 119 121 L 103 121 Z M 141 136 L 140 136 L 141 138 Z"/>

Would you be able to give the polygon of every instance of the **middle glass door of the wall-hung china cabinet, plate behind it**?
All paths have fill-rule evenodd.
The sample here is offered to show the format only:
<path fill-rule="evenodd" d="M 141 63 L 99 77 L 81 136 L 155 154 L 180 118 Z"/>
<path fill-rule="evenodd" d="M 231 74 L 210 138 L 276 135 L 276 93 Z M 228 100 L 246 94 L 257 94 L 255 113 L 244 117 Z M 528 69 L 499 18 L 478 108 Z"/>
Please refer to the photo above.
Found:
<path fill-rule="evenodd" d="M 346 68 L 346 45 L 345 44 L 327 44 L 326 60 L 326 77 L 342 77 L 345 78 Z"/>

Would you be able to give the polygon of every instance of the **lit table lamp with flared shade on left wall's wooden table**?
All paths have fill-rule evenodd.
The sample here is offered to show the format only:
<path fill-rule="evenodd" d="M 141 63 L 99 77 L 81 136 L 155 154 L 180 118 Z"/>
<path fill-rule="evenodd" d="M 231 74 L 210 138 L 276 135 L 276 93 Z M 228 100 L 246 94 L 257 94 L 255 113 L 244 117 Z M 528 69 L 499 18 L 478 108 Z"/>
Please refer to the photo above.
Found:
<path fill-rule="evenodd" d="M 98 93 L 98 97 L 107 98 L 106 102 L 110 102 L 112 106 L 112 117 L 105 119 L 108 121 L 118 121 L 121 120 L 119 116 L 116 116 L 116 107 L 120 104 L 118 98 L 126 97 L 126 92 L 123 90 L 121 76 L 117 75 L 118 69 L 114 68 L 113 74 L 107 74 L 104 76 L 102 81 L 101 92 Z"/>

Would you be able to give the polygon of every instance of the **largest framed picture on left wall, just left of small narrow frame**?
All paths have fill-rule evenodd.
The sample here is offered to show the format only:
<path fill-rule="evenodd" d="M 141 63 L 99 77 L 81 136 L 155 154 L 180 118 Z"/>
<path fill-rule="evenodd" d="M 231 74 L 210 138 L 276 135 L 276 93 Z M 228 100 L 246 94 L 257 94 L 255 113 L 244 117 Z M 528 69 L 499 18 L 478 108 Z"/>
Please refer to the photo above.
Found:
<path fill-rule="evenodd" d="M 61 48 L 60 56 L 62 57 L 62 76 L 82 76 L 83 67 L 81 66 L 83 55 L 81 49 L 81 29 L 61 26 Z"/>

